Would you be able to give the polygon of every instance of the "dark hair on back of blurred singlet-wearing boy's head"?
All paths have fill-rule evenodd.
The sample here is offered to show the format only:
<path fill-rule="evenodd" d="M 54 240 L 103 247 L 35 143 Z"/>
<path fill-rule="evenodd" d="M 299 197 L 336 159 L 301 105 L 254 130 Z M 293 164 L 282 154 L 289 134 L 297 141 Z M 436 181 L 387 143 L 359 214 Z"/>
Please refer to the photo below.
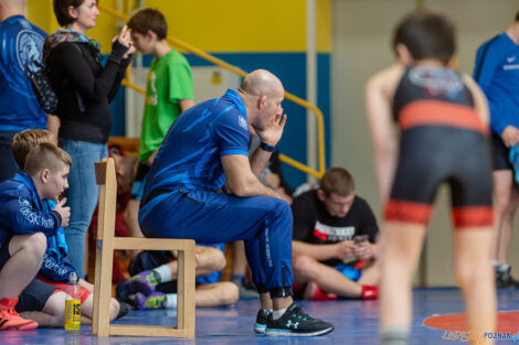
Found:
<path fill-rule="evenodd" d="M 393 48 L 403 44 L 415 60 L 436 58 L 445 65 L 456 51 L 455 28 L 445 15 L 419 10 L 406 15 L 396 26 Z"/>

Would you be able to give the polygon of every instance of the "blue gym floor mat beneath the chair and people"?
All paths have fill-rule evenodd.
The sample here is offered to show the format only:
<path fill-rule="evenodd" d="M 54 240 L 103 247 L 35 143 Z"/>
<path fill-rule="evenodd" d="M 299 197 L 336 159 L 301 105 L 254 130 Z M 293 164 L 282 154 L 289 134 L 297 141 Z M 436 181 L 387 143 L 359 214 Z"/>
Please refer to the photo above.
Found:
<path fill-rule="evenodd" d="M 91 335 L 89 326 L 82 326 L 78 333 L 63 330 L 40 330 L 27 332 L 0 332 L 0 344 L 20 345 L 108 345 L 108 344 L 354 344 L 377 345 L 378 301 L 298 301 L 304 310 L 315 317 L 332 322 L 336 330 L 320 337 L 266 337 L 255 335 L 252 327 L 258 309 L 258 300 L 239 301 L 230 308 L 197 310 L 197 336 L 193 339 L 165 337 L 121 337 L 97 338 Z M 519 310 L 519 290 L 498 292 L 500 311 Z M 414 321 L 410 344 L 467 344 L 462 341 L 443 339 L 444 331 L 428 328 L 423 321 L 435 314 L 458 313 L 463 311 L 463 300 L 457 289 L 416 289 L 414 291 Z M 118 321 L 120 324 L 167 325 L 176 322 L 174 311 L 131 311 Z M 519 324 L 518 324 L 519 328 Z M 496 344 L 513 344 L 511 339 L 497 341 Z M 485 343 L 483 343 L 485 344 Z M 519 343 L 518 343 L 519 344 Z"/>

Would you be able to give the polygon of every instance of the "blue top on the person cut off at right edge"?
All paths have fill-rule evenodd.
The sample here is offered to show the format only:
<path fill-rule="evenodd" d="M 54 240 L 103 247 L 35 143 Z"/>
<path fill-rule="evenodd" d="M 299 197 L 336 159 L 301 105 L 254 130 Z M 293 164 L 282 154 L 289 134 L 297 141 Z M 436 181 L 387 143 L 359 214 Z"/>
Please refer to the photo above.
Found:
<path fill-rule="evenodd" d="M 474 79 L 487 96 L 492 132 L 519 128 L 519 45 L 505 32 L 478 48 Z"/>

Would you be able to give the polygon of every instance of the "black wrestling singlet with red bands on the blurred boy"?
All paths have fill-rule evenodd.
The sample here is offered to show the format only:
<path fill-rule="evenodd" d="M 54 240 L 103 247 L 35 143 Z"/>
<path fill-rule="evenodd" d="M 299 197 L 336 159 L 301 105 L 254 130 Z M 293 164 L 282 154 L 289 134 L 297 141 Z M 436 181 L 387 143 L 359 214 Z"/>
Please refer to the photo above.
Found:
<path fill-rule="evenodd" d="M 436 191 L 447 183 L 455 227 L 490 226 L 488 128 L 462 76 L 446 67 L 407 67 L 393 115 L 400 153 L 385 219 L 427 224 Z"/>

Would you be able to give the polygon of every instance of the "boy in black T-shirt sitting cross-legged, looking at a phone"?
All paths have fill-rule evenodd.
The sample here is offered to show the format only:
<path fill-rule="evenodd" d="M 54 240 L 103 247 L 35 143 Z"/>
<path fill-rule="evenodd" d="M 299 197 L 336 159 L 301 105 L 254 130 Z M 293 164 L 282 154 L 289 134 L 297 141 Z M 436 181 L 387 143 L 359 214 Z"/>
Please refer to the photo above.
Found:
<path fill-rule="evenodd" d="M 379 228 L 350 173 L 328 170 L 318 190 L 294 200 L 292 212 L 295 290 L 310 300 L 377 299 Z"/>

